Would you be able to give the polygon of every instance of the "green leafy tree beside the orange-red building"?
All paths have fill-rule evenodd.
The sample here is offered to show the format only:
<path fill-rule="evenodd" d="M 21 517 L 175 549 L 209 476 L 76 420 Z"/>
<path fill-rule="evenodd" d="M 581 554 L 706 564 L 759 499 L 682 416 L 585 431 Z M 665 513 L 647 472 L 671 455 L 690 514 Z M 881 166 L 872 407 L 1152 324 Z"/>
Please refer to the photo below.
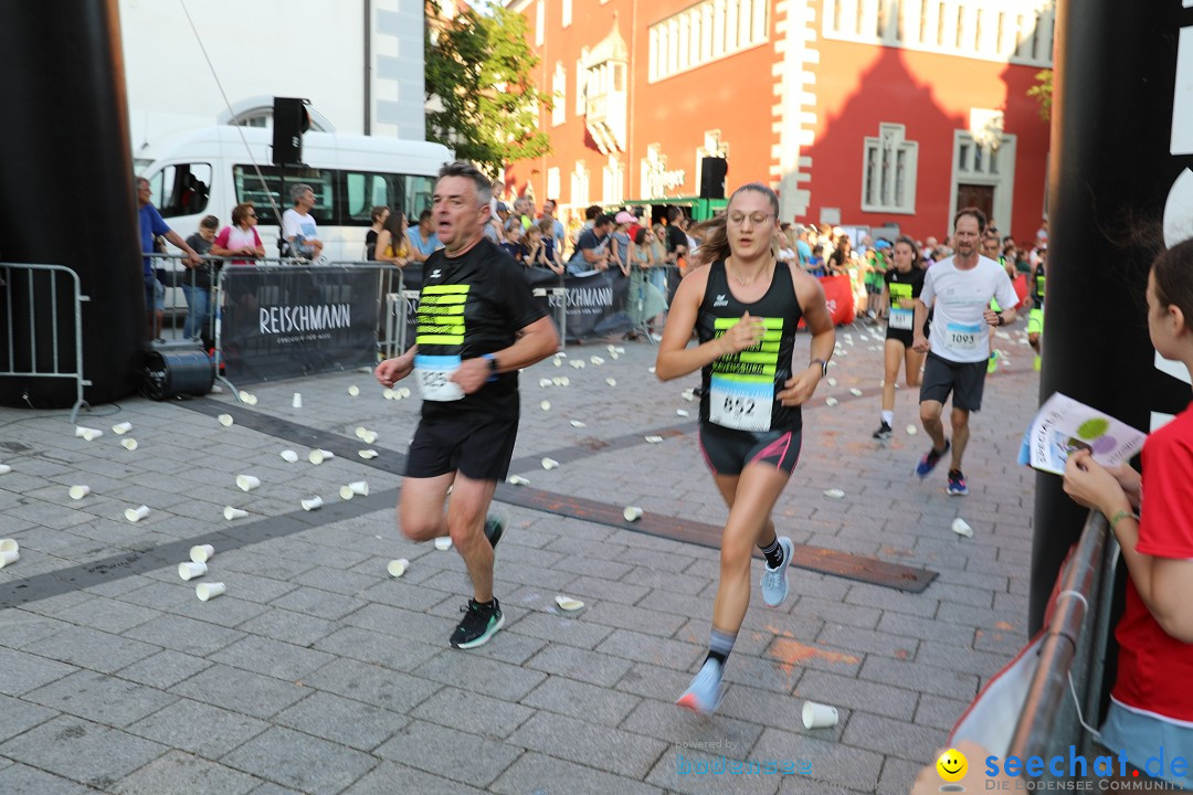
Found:
<path fill-rule="evenodd" d="M 539 58 L 526 44 L 526 20 L 508 8 L 469 8 L 426 26 L 427 138 L 495 174 L 508 162 L 550 153 L 538 129 L 550 98 L 532 82 Z"/>

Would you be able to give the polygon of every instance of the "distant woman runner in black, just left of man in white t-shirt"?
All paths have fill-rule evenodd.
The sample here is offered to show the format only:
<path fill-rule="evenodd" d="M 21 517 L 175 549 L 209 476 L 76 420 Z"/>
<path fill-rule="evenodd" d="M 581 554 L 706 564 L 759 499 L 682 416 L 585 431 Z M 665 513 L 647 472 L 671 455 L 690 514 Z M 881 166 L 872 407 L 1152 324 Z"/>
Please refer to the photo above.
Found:
<path fill-rule="evenodd" d="M 915 325 L 915 299 L 923 290 L 923 257 L 910 237 L 895 241 L 895 267 L 883 275 L 883 297 L 878 305 L 886 308 L 886 343 L 883 350 L 885 374 L 883 380 L 883 420 L 874 439 L 890 439 L 895 426 L 895 381 L 898 366 L 903 365 L 908 386 L 920 385 L 923 354 L 911 347 Z M 880 310 L 879 310 L 880 311 Z"/>

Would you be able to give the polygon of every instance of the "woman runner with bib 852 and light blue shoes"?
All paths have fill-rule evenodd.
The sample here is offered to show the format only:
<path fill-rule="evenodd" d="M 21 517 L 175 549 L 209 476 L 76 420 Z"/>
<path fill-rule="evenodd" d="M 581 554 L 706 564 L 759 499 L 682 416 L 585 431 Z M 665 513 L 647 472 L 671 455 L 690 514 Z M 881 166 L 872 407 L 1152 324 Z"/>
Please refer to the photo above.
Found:
<path fill-rule="evenodd" d="M 767 561 L 764 600 L 778 607 L 786 598 L 792 545 L 775 536 L 771 511 L 799 455 L 799 406 L 835 346 L 820 282 L 775 260 L 778 213 L 774 192 L 752 182 L 734 192 L 724 216 L 703 225 L 699 251 L 711 265 L 680 282 L 655 366 L 665 381 L 701 371 L 700 446 L 729 505 L 709 656 L 676 702 L 705 714 L 719 703 L 721 673 L 749 605 L 755 546 Z M 793 368 L 801 318 L 812 334 L 812 364 Z M 693 330 L 700 344 L 687 347 Z"/>

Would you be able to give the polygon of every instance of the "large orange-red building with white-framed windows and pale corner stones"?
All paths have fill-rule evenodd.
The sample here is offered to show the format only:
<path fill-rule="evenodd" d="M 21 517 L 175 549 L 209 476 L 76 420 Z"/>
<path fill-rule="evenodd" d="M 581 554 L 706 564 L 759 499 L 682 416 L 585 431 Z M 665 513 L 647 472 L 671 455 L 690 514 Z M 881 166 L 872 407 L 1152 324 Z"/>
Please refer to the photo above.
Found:
<path fill-rule="evenodd" d="M 506 181 L 565 209 L 779 191 L 784 221 L 942 236 L 977 205 L 1031 240 L 1051 0 L 514 0 L 556 98 L 552 153 Z"/>

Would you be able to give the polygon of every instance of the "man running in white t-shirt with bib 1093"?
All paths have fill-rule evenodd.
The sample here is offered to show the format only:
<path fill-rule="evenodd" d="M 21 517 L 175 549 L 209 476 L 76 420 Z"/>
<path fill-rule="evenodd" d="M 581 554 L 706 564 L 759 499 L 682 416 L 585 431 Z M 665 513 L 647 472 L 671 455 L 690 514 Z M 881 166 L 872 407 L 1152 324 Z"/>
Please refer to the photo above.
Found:
<path fill-rule="evenodd" d="M 1007 272 L 995 260 L 978 254 L 984 231 L 985 213 L 977 207 L 959 210 L 953 218 L 954 254 L 928 268 L 923 290 L 915 299 L 913 347 L 928 354 L 920 384 L 920 421 L 932 437 L 932 449 L 920 460 L 915 473 L 928 477 L 952 449 L 948 493 L 960 496 L 969 493 L 962 473 L 962 455 L 969 443 L 970 411 L 982 408 L 990 328 L 1013 323 L 1018 317 L 1010 308 L 1019 298 Z M 991 310 L 991 298 L 1007 309 Z M 935 310 L 931 337 L 923 334 L 929 309 Z M 951 446 L 940 420 L 950 393 L 953 396 Z"/>

